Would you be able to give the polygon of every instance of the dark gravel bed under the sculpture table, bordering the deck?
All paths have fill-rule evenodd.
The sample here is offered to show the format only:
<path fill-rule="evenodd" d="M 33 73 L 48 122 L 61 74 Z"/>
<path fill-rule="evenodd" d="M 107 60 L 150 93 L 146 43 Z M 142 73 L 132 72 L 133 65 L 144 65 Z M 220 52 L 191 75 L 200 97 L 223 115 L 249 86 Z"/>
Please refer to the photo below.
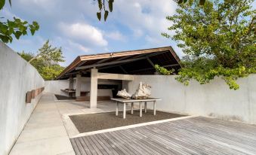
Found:
<path fill-rule="evenodd" d="M 142 114 L 142 117 L 139 117 L 139 111 L 134 111 L 134 114 L 131 114 L 131 111 L 127 111 L 125 119 L 122 118 L 122 111 L 119 111 L 118 117 L 116 116 L 116 112 L 79 114 L 69 117 L 79 132 L 82 133 L 184 116 L 162 111 L 156 111 L 156 116 L 154 116 L 153 111 L 148 110 L 147 113 Z"/>

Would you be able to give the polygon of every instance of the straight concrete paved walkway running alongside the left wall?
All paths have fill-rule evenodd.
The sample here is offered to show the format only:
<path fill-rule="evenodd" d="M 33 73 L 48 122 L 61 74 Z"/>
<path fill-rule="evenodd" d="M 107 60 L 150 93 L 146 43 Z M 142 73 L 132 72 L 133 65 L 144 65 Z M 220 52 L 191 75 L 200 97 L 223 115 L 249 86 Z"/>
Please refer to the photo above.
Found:
<path fill-rule="evenodd" d="M 57 104 L 53 95 L 42 96 L 14 144 L 11 155 L 75 154 Z"/>

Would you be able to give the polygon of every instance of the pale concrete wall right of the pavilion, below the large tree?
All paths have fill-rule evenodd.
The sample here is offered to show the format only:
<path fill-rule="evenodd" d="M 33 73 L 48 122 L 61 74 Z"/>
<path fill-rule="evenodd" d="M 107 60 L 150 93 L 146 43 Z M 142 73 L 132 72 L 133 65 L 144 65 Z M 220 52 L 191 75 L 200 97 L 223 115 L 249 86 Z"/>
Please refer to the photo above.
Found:
<path fill-rule="evenodd" d="M 205 85 L 192 81 L 186 87 L 174 77 L 134 76 L 134 81 L 128 83 L 128 92 L 134 93 L 140 81 L 147 82 L 152 86 L 152 97 L 162 99 L 157 102 L 158 110 L 256 123 L 256 74 L 239 79 L 239 90 L 230 90 L 221 78 Z"/>

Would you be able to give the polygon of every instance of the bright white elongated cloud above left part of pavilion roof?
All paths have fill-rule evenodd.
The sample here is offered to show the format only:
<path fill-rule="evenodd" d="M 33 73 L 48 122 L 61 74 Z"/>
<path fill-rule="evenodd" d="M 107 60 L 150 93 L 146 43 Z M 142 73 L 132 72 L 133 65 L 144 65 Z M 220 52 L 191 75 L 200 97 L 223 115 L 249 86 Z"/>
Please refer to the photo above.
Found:
<path fill-rule="evenodd" d="M 100 29 L 86 23 L 60 23 L 60 30 L 69 38 L 79 42 L 88 42 L 98 46 L 106 46 L 107 41 L 103 38 Z"/>

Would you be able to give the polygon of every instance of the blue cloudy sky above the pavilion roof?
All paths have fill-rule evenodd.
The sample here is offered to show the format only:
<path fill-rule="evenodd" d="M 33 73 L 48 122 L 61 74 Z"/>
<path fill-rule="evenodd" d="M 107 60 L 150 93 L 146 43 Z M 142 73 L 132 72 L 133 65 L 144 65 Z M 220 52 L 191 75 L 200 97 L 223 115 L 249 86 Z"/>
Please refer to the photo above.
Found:
<path fill-rule="evenodd" d="M 36 53 L 46 40 L 62 47 L 69 65 L 76 56 L 172 46 L 182 52 L 171 39 L 162 37 L 171 23 L 165 19 L 175 14 L 172 0 L 116 0 L 106 22 L 97 20 L 94 0 L 15 0 L 5 5 L 2 17 L 19 17 L 39 23 L 35 35 L 21 36 L 8 44 L 14 51 Z"/>

